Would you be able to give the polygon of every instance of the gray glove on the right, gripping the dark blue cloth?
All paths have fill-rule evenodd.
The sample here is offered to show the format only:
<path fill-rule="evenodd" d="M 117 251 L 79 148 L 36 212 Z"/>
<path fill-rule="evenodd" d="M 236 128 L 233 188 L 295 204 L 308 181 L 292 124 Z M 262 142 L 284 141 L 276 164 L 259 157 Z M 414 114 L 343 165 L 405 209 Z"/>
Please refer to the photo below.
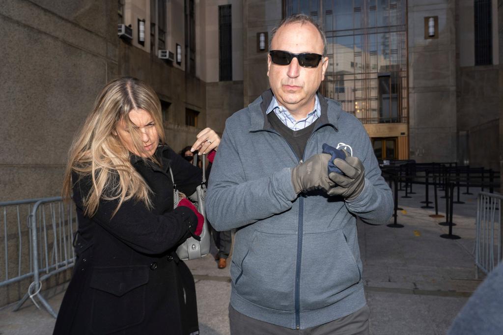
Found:
<path fill-rule="evenodd" d="M 339 195 L 346 200 L 353 200 L 362 193 L 365 186 L 365 167 L 358 157 L 346 157 L 346 160 L 336 158 L 333 164 L 339 167 L 344 175 L 336 172 L 330 173 L 328 177 L 338 186 L 330 189 L 328 195 Z"/>

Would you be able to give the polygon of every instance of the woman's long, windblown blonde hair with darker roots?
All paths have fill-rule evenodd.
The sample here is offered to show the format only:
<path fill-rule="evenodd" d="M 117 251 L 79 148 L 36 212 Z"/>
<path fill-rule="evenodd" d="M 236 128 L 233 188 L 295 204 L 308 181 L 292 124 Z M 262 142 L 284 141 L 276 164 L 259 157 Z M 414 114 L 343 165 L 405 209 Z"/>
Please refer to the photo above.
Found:
<path fill-rule="evenodd" d="M 134 198 L 151 208 L 150 188 L 130 162 L 130 152 L 117 136 L 120 122 L 131 134 L 136 152 L 142 152 L 143 143 L 129 112 L 143 109 L 150 113 L 161 143 L 164 129 L 159 98 L 144 82 L 122 77 L 107 83 L 96 98 L 93 111 L 73 140 L 68 154 L 63 181 L 63 198 L 69 199 L 73 184 L 72 172 L 79 178 L 91 176 L 92 187 L 87 195 L 82 194 L 84 214 L 93 216 L 100 199 L 119 200 L 117 212 L 124 201 Z M 153 157 L 146 157 L 156 161 Z"/>

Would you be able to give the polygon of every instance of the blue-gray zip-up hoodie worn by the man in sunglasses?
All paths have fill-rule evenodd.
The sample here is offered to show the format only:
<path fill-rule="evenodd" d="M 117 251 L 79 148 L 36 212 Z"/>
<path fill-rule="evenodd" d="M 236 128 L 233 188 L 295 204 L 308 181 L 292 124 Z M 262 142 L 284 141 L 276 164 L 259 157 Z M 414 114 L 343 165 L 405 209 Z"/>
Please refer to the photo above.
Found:
<path fill-rule="evenodd" d="M 249 317 L 305 329 L 365 305 L 356 217 L 386 223 L 391 190 L 381 177 L 362 123 L 318 95 L 321 116 L 303 157 L 266 117 L 266 91 L 226 121 L 207 193 L 208 219 L 236 231 L 230 268 L 234 309 Z M 327 143 L 365 166 L 365 187 L 352 201 L 316 191 L 295 194 L 291 169 Z"/>

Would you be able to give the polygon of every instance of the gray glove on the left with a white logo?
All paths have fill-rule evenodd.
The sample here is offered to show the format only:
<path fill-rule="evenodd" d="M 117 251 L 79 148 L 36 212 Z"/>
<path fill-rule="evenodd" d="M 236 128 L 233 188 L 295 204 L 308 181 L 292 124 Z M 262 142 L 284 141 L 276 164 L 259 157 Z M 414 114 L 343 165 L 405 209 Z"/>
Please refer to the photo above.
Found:
<path fill-rule="evenodd" d="M 295 193 L 322 189 L 327 192 L 334 186 L 328 178 L 330 155 L 318 153 L 292 169 L 292 185 Z"/>

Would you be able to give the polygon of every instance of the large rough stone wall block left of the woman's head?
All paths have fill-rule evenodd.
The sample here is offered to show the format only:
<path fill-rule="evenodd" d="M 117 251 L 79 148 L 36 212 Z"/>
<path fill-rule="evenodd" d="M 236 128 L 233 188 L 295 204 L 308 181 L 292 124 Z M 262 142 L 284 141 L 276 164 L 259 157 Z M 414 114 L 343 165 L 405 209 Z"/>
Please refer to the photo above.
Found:
<path fill-rule="evenodd" d="M 107 60 L 0 19 L 3 164 L 63 163 L 73 134 L 107 81 Z"/>

